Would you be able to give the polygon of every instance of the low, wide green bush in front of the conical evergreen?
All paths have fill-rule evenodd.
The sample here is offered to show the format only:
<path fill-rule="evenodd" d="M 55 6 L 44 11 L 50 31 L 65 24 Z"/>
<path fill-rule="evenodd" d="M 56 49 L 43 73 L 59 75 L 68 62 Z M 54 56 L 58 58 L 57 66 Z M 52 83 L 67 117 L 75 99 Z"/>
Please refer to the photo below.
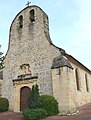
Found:
<path fill-rule="evenodd" d="M 34 109 L 27 108 L 24 109 L 22 113 L 27 120 L 40 120 L 47 116 L 47 111 L 42 108 L 34 108 Z"/>

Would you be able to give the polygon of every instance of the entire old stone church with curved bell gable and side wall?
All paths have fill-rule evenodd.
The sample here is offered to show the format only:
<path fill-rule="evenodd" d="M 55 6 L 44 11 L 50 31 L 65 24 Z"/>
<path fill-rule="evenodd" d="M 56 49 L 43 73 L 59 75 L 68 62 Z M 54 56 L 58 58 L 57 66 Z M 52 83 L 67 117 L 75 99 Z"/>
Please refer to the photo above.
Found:
<path fill-rule="evenodd" d="M 91 71 L 53 44 L 47 14 L 32 5 L 20 11 L 10 26 L 9 46 L 0 72 L 0 94 L 10 110 L 27 107 L 32 85 L 53 95 L 61 114 L 91 102 Z"/>

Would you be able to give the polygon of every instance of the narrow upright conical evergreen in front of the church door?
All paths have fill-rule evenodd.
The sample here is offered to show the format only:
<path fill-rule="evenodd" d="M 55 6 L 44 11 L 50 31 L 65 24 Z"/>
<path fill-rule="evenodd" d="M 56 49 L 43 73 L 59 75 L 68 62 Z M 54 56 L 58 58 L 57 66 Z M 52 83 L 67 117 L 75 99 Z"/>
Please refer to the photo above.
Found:
<path fill-rule="evenodd" d="M 29 97 L 29 108 L 38 108 L 40 105 L 38 85 L 33 85 Z"/>

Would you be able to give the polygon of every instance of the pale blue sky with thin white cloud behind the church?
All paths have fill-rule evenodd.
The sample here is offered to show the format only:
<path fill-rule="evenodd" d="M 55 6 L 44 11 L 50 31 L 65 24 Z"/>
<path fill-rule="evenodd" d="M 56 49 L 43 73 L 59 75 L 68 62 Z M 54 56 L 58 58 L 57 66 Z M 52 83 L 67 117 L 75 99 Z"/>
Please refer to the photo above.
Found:
<path fill-rule="evenodd" d="M 27 0 L 0 0 L 0 51 L 6 54 L 9 29 Z M 52 42 L 91 70 L 91 0 L 31 0 L 49 17 Z"/>

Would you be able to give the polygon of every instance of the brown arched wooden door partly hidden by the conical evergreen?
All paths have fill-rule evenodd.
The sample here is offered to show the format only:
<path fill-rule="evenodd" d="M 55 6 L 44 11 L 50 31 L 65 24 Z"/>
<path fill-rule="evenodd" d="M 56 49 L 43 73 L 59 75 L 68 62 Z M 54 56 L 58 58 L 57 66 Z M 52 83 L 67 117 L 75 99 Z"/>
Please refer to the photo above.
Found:
<path fill-rule="evenodd" d="M 22 87 L 20 90 L 20 111 L 28 107 L 28 100 L 31 89 L 27 86 Z"/>

